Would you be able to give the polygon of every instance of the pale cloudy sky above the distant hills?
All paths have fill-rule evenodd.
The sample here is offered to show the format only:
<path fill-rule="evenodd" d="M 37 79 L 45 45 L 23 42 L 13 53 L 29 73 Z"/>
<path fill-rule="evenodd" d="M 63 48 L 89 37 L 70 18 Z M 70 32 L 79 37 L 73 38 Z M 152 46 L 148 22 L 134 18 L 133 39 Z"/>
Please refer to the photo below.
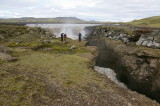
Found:
<path fill-rule="evenodd" d="M 160 0 L 0 0 L 0 18 L 77 17 L 127 22 L 160 16 Z"/>

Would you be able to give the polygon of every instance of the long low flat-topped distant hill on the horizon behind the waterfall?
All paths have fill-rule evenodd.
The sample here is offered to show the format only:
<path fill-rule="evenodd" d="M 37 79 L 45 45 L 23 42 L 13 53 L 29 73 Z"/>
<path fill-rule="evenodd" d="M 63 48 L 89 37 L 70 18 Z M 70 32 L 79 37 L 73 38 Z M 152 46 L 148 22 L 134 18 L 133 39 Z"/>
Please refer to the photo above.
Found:
<path fill-rule="evenodd" d="M 22 17 L 22 18 L 9 18 L 9 19 L 1 18 L 0 23 L 97 23 L 97 22 L 85 21 L 76 17 L 56 17 L 56 18 Z"/>

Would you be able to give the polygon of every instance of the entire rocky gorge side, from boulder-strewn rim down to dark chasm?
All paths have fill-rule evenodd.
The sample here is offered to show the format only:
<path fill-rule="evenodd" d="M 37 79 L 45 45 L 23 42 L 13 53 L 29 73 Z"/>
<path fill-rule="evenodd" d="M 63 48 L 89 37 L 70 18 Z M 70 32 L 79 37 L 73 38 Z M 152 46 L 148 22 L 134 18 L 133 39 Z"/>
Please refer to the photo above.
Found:
<path fill-rule="evenodd" d="M 121 26 L 86 27 L 97 46 L 96 65 L 113 69 L 133 91 L 160 102 L 160 30 Z"/>

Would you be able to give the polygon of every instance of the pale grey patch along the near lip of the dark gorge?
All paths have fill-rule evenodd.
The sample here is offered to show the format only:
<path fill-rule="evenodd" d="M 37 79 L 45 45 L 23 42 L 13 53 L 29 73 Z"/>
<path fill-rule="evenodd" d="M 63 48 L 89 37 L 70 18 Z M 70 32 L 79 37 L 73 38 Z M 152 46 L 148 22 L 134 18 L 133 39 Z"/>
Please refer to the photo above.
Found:
<path fill-rule="evenodd" d="M 116 73 L 114 72 L 114 70 L 98 66 L 95 66 L 94 69 L 99 73 L 106 75 L 110 80 L 112 80 L 115 84 L 119 85 L 120 87 L 127 88 L 127 86 L 124 83 L 121 83 L 117 80 Z"/>

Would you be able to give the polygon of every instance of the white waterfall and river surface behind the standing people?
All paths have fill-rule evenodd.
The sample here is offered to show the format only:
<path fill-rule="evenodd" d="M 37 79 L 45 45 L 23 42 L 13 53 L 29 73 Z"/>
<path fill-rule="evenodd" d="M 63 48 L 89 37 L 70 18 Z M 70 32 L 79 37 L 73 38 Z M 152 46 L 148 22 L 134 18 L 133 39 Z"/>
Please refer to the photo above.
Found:
<path fill-rule="evenodd" d="M 42 27 L 50 30 L 56 37 L 60 37 L 61 33 L 66 33 L 71 39 L 78 39 L 78 33 L 82 33 L 82 37 L 86 35 L 84 28 L 86 26 L 97 26 L 100 24 L 27 24 L 29 27 Z"/>

